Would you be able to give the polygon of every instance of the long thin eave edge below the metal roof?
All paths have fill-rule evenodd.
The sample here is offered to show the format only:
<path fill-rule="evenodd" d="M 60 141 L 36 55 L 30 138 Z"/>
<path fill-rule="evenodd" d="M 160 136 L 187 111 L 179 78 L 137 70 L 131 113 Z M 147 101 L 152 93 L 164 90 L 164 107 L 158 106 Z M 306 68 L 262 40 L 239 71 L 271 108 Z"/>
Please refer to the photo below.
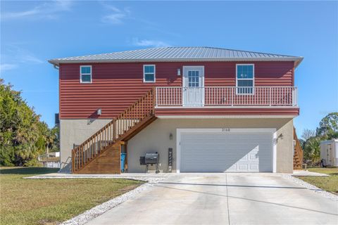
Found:
<path fill-rule="evenodd" d="M 61 63 L 146 63 L 146 62 L 232 62 L 232 61 L 294 61 L 297 67 L 303 57 L 285 57 L 285 58 L 148 58 L 148 59 L 114 59 L 114 60 L 48 60 L 53 65 Z"/>

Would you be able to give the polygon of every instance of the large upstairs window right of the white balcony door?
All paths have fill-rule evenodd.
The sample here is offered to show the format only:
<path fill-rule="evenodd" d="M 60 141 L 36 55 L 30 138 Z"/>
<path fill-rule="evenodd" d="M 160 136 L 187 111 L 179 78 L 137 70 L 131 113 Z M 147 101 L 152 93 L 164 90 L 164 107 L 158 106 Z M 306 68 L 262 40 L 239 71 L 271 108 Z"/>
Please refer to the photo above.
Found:
<path fill-rule="evenodd" d="M 253 94 L 254 77 L 253 64 L 237 64 L 236 94 Z"/>

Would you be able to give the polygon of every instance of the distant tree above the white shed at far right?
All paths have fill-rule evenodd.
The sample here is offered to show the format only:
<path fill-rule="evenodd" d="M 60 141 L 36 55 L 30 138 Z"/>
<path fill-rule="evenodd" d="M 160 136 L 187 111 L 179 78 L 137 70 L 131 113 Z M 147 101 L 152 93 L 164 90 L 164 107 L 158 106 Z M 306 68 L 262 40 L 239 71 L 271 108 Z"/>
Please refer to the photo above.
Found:
<path fill-rule="evenodd" d="M 329 113 L 324 117 L 319 123 L 316 134 L 323 137 L 323 139 L 337 139 L 338 113 Z"/>

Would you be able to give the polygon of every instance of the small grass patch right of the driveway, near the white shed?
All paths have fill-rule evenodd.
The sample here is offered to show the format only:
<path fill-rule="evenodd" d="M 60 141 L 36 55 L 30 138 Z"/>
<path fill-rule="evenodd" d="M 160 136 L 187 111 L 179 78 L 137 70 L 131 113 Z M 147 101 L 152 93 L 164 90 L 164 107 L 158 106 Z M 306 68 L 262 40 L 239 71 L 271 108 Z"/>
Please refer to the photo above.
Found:
<path fill-rule="evenodd" d="M 327 174 L 329 176 L 298 176 L 298 178 L 325 191 L 330 191 L 338 195 L 338 167 L 308 168 L 308 171 Z"/>

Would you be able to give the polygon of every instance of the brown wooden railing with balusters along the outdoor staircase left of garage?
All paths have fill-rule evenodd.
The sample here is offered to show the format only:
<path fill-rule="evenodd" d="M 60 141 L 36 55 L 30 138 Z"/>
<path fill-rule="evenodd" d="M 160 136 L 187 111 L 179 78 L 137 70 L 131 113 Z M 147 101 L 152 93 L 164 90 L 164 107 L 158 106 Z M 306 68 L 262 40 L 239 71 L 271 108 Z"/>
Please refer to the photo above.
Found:
<path fill-rule="evenodd" d="M 108 146 L 122 140 L 127 131 L 142 122 L 146 117 L 155 115 L 155 96 L 155 88 L 153 88 L 80 146 L 74 148 L 72 150 L 72 172 L 74 173 L 87 165 Z"/>

